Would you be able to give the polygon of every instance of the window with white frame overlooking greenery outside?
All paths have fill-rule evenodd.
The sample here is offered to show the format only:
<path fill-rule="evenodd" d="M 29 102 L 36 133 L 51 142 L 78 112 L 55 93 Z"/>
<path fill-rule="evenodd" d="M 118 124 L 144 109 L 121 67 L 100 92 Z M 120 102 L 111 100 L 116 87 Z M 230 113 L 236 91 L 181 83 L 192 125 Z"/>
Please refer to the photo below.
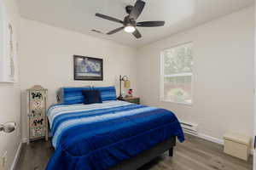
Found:
<path fill-rule="evenodd" d="M 161 52 L 161 100 L 192 104 L 192 45 L 189 42 Z"/>

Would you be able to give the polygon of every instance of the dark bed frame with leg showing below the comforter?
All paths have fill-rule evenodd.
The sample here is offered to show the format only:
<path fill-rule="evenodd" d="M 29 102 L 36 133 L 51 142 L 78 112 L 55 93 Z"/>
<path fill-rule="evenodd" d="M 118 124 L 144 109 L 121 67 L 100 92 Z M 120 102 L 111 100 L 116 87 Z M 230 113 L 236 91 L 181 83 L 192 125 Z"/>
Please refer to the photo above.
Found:
<path fill-rule="evenodd" d="M 110 170 L 136 170 L 167 150 L 169 150 L 169 156 L 173 156 L 173 148 L 175 145 L 176 137 L 172 137 L 171 139 L 167 139 L 165 142 L 156 144 L 151 149 L 145 150 L 129 160 L 120 162 L 118 165 L 111 167 Z"/>

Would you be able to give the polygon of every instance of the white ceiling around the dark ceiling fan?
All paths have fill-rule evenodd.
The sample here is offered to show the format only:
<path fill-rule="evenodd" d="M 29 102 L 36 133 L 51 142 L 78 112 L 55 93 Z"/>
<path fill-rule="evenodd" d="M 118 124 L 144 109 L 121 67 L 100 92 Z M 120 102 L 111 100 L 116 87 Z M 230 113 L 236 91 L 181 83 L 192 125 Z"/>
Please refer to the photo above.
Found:
<path fill-rule="evenodd" d="M 141 47 L 178 31 L 198 26 L 225 14 L 247 7 L 254 0 L 144 0 L 146 6 L 137 21 L 165 20 L 166 26 L 138 28 L 143 38 L 136 39 L 125 31 L 112 36 L 92 32 L 96 29 L 111 31 L 119 26 L 108 20 L 95 17 L 95 13 L 108 14 L 123 20 L 125 6 L 136 0 L 17 0 L 21 16 L 52 26 L 79 31 L 131 47 Z"/>

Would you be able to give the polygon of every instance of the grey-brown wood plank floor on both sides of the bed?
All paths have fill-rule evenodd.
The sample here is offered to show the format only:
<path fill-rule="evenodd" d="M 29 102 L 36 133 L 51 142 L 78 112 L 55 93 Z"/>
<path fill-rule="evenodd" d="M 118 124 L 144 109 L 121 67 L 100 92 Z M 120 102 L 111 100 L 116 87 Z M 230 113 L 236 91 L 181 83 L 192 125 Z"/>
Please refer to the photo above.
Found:
<path fill-rule="evenodd" d="M 24 144 L 16 170 L 43 170 L 54 149 L 44 140 Z M 173 157 L 167 153 L 141 167 L 139 170 L 253 170 L 253 158 L 241 161 L 225 155 L 223 146 L 203 139 L 186 136 L 183 144 L 177 142 Z"/>

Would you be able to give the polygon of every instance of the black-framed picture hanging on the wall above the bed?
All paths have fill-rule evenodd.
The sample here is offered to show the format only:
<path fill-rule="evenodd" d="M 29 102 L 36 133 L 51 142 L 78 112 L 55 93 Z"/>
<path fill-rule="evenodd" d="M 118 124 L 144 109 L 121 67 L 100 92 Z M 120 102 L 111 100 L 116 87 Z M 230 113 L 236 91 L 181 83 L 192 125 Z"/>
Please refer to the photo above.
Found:
<path fill-rule="evenodd" d="M 103 59 L 73 55 L 74 80 L 102 81 Z"/>

